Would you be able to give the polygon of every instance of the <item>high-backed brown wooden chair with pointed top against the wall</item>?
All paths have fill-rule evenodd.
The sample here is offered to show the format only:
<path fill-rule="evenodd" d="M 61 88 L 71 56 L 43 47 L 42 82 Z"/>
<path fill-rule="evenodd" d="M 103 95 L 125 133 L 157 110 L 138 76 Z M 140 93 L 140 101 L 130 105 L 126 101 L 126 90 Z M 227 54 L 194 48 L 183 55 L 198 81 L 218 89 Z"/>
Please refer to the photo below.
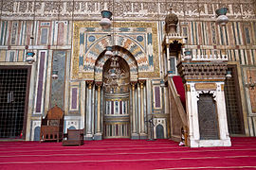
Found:
<path fill-rule="evenodd" d="M 64 111 L 58 106 L 48 110 L 41 118 L 40 142 L 62 141 L 64 134 Z"/>

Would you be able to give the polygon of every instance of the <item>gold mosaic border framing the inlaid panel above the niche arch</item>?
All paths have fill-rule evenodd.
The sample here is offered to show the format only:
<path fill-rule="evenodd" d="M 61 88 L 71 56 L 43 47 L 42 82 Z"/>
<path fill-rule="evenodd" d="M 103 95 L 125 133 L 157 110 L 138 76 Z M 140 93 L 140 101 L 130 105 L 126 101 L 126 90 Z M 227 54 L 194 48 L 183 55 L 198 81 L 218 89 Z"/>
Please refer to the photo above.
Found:
<path fill-rule="evenodd" d="M 138 78 L 146 77 L 157 77 L 159 73 L 159 58 L 158 58 L 158 36 L 157 36 L 157 25 L 153 22 L 119 22 L 115 23 L 116 27 L 145 27 L 146 29 L 151 28 L 152 32 L 152 45 L 153 45 L 153 62 L 154 72 L 139 72 Z M 72 79 L 95 79 L 94 72 L 82 72 L 79 69 L 79 54 L 80 54 L 80 30 L 85 27 L 93 27 L 96 29 L 95 33 L 101 32 L 99 22 L 75 22 L 73 32 L 73 55 L 71 59 L 71 77 Z M 103 32 L 102 33 L 106 33 Z M 133 33 L 133 32 L 129 32 Z M 148 32 L 141 32 L 148 33 Z M 85 40 L 87 41 L 87 40 Z"/>

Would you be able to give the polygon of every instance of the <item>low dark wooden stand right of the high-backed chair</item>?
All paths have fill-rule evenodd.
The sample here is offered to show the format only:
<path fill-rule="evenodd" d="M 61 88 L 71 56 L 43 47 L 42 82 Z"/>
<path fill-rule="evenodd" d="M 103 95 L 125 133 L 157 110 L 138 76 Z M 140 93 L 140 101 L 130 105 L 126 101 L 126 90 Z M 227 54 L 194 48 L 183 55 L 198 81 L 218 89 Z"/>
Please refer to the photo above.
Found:
<path fill-rule="evenodd" d="M 67 129 L 64 134 L 63 145 L 82 145 L 83 129 Z"/>

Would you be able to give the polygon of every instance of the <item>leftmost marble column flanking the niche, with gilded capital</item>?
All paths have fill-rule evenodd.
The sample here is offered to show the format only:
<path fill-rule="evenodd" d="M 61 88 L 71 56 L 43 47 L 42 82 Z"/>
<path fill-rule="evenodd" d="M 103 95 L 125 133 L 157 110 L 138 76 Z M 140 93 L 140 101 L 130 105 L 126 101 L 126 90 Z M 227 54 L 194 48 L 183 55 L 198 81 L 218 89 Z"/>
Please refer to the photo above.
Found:
<path fill-rule="evenodd" d="M 86 81 L 88 84 L 87 106 L 86 106 L 86 135 L 85 140 L 92 140 L 92 84 L 93 81 Z"/>

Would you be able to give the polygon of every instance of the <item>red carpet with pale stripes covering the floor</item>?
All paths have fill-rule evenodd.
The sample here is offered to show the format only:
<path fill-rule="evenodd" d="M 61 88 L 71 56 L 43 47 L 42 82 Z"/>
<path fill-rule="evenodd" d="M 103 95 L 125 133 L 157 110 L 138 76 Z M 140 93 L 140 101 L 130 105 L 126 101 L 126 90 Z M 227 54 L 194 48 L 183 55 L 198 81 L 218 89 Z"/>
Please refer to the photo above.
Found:
<path fill-rule="evenodd" d="M 0 142 L 0 169 L 256 169 L 256 138 L 232 138 L 231 147 L 190 148 L 170 140 L 61 143 Z"/>

